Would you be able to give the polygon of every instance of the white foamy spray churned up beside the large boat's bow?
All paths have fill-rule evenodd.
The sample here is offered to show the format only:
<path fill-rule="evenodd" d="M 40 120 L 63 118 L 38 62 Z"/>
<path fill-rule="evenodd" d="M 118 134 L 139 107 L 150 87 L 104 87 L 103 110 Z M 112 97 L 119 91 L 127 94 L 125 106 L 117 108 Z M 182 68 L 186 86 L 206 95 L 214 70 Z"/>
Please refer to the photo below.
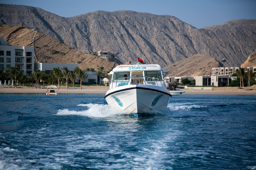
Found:
<path fill-rule="evenodd" d="M 109 105 L 103 104 L 79 104 L 82 107 L 79 111 L 60 109 L 57 115 L 67 116 L 67 115 L 77 115 L 86 116 L 94 118 L 107 118 L 107 117 L 137 117 L 138 114 L 129 114 L 129 111 L 120 110 L 116 107 L 111 107 Z M 198 105 L 180 105 L 173 106 L 168 105 L 167 108 L 159 108 L 153 111 L 148 111 L 145 114 L 140 114 L 140 116 L 145 117 L 190 117 L 190 116 L 205 116 L 205 114 L 200 112 L 192 112 L 191 109 L 203 108 L 205 106 Z"/>

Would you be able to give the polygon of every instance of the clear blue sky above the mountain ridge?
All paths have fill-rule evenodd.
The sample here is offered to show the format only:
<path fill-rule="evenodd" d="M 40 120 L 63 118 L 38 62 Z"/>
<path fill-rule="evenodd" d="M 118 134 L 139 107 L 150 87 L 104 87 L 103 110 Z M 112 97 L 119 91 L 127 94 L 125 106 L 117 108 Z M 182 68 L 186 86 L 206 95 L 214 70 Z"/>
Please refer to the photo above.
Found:
<path fill-rule="evenodd" d="M 175 16 L 196 28 L 236 19 L 256 19 L 256 0 L 0 0 L 0 3 L 39 7 L 62 17 L 99 10 L 132 10 Z"/>

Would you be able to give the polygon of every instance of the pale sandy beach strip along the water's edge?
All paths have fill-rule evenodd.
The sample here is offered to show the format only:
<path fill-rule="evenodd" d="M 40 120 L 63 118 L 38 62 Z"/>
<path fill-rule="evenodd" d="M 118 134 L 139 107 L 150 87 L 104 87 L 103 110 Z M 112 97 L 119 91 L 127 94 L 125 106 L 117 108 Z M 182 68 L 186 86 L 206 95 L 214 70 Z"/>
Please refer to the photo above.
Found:
<path fill-rule="evenodd" d="M 79 94 L 105 94 L 108 87 L 96 87 L 96 86 L 84 86 L 82 89 L 80 87 L 68 88 L 66 86 L 61 86 L 59 89 L 60 94 L 68 93 L 79 93 Z M 181 89 L 185 91 L 184 94 L 222 94 L 222 95 L 256 95 L 256 89 L 246 90 L 246 91 L 211 91 L 211 90 L 192 90 L 192 89 Z M 32 87 L 21 88 L 0 88 L 0 93 L 46 93 L 46 89 L 36 89 Z"/>

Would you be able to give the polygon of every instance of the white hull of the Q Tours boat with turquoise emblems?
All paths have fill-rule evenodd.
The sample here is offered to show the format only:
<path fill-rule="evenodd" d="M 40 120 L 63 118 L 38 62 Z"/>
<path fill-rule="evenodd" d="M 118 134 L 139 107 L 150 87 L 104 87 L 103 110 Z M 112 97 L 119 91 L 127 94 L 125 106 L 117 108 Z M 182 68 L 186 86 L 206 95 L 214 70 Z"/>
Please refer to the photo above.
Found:
<path fill-rule="evenodd" d="M 149 88 L 150 87 L 150 88 Z M 160 107 L 167 107 L 169 90 L 152 85 L 128 85 L 115 91 L 109 90 L 105 99 L 108 105 L 126 110 L 128 113 L 147 113 Z"/>

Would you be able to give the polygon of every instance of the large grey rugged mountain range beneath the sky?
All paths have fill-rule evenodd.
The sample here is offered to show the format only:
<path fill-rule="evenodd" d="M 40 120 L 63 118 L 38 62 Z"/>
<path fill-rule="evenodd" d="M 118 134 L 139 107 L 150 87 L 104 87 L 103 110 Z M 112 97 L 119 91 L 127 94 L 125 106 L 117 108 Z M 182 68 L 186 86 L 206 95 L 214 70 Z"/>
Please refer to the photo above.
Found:
<path fill-rule="evenodd" d="M 197 29 L 169 15 L 96 11 L 61 17 L 40 8 L 0 4 L 0 23 L 23 25 L 82 52 L 111 51 L 125 63 L 140 58 L 168 66 L 200 53 L 239 66 L 256 51 L 256 20 Z"/>

